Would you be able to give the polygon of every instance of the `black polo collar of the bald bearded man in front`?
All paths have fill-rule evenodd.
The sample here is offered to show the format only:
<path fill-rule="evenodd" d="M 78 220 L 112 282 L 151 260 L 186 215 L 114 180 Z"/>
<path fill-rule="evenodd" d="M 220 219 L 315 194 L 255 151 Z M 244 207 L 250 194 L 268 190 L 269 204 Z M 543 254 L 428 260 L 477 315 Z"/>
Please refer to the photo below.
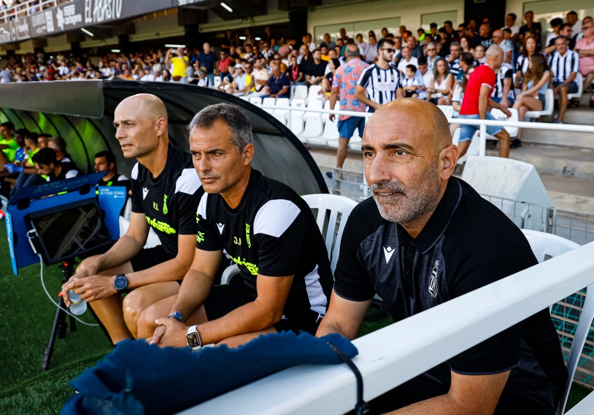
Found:
<path fill-rule="evenodd" d="M 415 250 L 425 254 L 445 233 L 454 212 L 456 212 L 460 204 L 460 199 L 462 199 L 462 186 L 456 178 L 450 177 L 443 197 L 441 197 L 435 211 L 424 228 L 421 229 L 421 232 L 416 238 L 410 239 L 405 229 L 401 225 L 397 225 L 399 234 L 402 235 L 402 237 L 399 237 L 399 241 L 403 243 L 410 242 Z"/>

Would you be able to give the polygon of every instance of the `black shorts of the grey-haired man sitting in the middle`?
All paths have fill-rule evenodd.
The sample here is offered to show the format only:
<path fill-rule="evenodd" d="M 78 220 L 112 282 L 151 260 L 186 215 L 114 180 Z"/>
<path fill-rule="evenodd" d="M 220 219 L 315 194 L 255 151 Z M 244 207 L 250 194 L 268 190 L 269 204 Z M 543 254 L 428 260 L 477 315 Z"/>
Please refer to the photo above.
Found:
<path fill-rule="evenodd" d="M 229 314 L 234 309 L 251 301 L 245 293 L 241 277 L 236 276 L 227 285 L 213 286 L 206 301 L 204 301 L 204 311 L 206 311 L 208 321 L 211 321 L 223 317 L 223 315 Z M 309 309 L 301 313 L 301 315 L 283 315 L 282 320 L 273 324 L 273 327 L 279 332 L 294 331 L 299 333 L 299 331 L 304 330 L 315 334 L 322 317 L 324 316 Z"/>

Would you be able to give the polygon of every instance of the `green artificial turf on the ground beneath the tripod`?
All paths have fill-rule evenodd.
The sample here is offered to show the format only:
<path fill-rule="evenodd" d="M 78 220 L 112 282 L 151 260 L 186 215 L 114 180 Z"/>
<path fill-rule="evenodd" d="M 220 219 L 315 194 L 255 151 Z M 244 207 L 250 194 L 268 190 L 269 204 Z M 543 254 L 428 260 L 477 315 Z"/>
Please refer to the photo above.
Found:
<path fill-rule="evenodd" d="M 4 221 L 0 221 L 0 414 L 58 414 L 74 393 L 68 382 L 92 367 L 112 346 L 99 327 L 77 324 L 65 339 L 56 339 L 46 372 L 41 371 L 43 352 L 48 346 L 55 306 L 43 292 L 39 264 L 12 274 Z M 61 286 L 62 273 L 57 265 L 44 266 L 44 280 L 53 298 Z M 81 318 L 95 323 L 90 312 Z M 392 322 L 390 317 L 365 322 L 359 336 Z M 590 392 L 573 385 L 567 408 Z"/>

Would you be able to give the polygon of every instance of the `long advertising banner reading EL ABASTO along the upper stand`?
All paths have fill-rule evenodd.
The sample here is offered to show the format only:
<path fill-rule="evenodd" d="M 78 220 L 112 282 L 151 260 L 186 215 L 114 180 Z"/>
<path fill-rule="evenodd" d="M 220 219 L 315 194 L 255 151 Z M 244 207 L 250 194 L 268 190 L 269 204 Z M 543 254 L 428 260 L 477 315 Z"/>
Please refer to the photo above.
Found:
<path fill-rule="evenodd" d="M 181 3 L 181 0 L 74 0 L 0 24 L 0 44 L 135 17 L 178 7 Z"/>

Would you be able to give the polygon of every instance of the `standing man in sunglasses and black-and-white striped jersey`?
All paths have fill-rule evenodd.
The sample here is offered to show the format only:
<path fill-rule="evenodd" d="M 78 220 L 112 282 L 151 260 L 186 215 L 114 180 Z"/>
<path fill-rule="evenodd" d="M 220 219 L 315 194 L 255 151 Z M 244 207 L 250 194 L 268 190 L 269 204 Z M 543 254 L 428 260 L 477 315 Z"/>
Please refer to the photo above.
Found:
<path fill-rule="evenodd" d="M 394 42 L 380 39 L 377 46 L 377 62 L 362 72 L 355 88 L 355 98 L 366 104 L 368 113 L 403 97 L 400 72 L 390 63 L 394 56 Z"/>

